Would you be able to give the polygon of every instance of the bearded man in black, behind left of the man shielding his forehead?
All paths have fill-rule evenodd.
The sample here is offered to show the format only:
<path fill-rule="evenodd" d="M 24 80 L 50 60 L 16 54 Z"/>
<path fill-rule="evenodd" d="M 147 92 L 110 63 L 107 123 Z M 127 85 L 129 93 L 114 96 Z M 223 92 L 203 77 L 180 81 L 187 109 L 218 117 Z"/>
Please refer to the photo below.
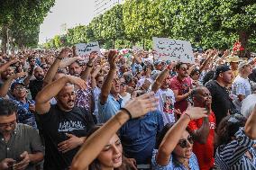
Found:
<path fill-rule="evenodd" d="M 41 67 L 36 67 L 33 72 L 35 79 L 31 80 L 29 84 L 29 89 L 32 94 L 32 100 L 34 100 L 36 94 L 38 94 L 41 91 L 44 78 L 44 71 Z"/>

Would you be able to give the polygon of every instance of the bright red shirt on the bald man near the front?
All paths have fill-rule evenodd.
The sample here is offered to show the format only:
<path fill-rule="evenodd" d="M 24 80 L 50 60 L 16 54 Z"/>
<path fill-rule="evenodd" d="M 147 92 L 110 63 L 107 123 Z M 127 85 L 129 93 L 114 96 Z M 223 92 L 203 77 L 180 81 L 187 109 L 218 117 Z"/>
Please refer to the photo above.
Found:
<path fill-rule="evenodd" d="M 198 164 L 200 166 L 200 170 L 209 170 L 214 166 L 215 158 L 214 158 L 214 142 L 215 142 L 215 113 L 211 112 L 208 116 L 209 118 L 209 136 L 206 141 L 206 144 L 200 144 L 195 141 L 193 146 L 193 152 L 197 156 Z M 203 118 L 190 121 L 188 123 L 189 130 L 198 130 L 203 124 Z"/>

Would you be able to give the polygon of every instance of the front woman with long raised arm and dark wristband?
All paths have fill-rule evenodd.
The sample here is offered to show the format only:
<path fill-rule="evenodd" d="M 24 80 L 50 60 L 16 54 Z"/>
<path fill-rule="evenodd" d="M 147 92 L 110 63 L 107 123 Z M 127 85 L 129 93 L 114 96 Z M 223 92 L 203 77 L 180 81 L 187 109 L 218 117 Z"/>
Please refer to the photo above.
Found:
<path fill-rule="evenodd" d="M 156 110 L 157 105 L 158 99 L 154 97 L 154 93 L 143 94 L 127 103 L 114 117 L 87 138 L 74 157 L 71 170 L 130 169 L 131 166 L 127 166 L 127 161 L 123 161 L 123 148 L 116 131 L 126 121 Z"/>

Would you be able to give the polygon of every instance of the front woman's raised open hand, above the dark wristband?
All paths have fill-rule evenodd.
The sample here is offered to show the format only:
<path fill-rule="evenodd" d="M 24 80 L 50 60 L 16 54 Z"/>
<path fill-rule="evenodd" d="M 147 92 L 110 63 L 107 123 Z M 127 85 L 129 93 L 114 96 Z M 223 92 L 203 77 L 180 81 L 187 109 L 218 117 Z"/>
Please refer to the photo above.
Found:
<path fill-rule="evenodd" d="M 134 98 L 124 108 L 131 112 L 133 118 L 138 118 L 147 112 L 155 111 L 158 104 L 159 99 L 154 96 L 154 92 L 151 92 Z"/>

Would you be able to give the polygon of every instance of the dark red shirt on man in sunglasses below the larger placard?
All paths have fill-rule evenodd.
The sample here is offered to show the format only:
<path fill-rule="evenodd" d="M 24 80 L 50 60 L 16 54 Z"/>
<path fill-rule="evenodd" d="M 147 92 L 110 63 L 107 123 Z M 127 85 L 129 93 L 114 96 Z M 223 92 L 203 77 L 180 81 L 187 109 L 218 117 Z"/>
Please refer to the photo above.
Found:
<path fill-rule="evenodd" d="M 170 80 L 169 88 L 171 90 L 178 90 L 178 95 L 187 94 L 189 88 L 192 87 L 191 79 L 189 77 L 184 78 L 184 80 L 179 80 L 178 76 L 174 76 Z M 180 112 L 184 112 L 187 109 L 187 99 L 174 103 L 174 108 L 179 109 Z"/>

